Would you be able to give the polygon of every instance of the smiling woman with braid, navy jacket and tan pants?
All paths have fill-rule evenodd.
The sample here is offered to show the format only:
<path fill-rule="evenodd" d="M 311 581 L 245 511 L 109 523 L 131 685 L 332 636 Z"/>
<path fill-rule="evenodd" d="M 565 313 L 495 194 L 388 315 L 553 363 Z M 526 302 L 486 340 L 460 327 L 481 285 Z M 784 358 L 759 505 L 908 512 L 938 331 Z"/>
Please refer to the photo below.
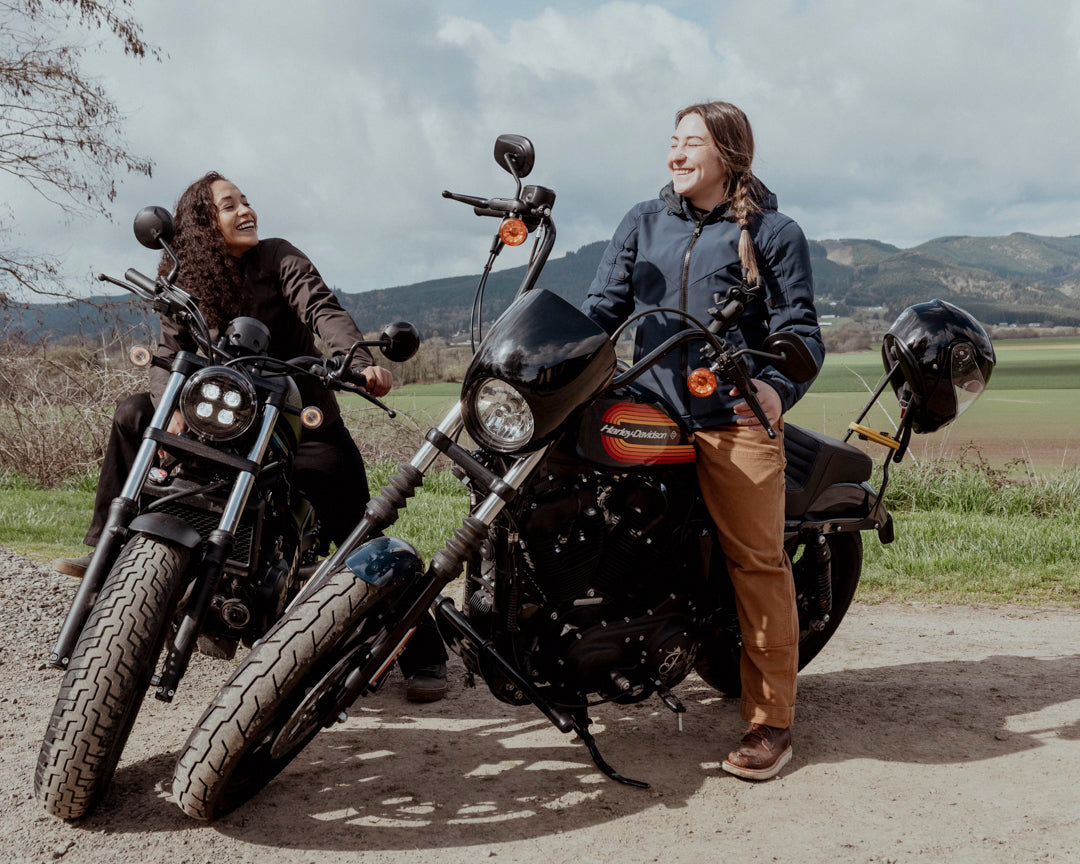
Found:
<path fill-rule="evenodd" d="M 799 227 L 751 171 L 746 116 L 723 102 L 675 117 L 660 197 L 626 214 L 600 260 L 584 311 L 608 333 L 643 309 L 680 309 L 703 323 L 731 287 L 753 299 L 733 329 L 737 348 L 761 349 L 777 330 L 797 334 L 819 367 L 824 346 L 813 303 L 810 251 Z M 718 296 L 717 296 L 718 295 Z M 644 318 L 635 357 L 680 329 L 670 312 Z M 770 438 L 735 388 L 689 395 L 687 374 L 704 365 L 700 345 L 671 352 L 643 376 L 693 430 L 698 478 L 735 589 L 742 632 L 740 711 L 750 728 L 723 762 L 729 773 L 768 780 L 792 758 L 798 671 L 798 617 L 783 546 L 783 414 L 809 388 L 751 357 L 757 399 L 777 430 Z"/>

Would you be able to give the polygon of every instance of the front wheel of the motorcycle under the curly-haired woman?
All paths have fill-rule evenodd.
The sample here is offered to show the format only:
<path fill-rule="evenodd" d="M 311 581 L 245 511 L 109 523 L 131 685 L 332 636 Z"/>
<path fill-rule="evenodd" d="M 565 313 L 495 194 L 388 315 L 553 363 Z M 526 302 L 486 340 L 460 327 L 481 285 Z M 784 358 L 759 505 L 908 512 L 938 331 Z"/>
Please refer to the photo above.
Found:
<path fill-rule="evenodd" d="M 105 795 L 138 715 L 188 563 L 188 550 L 143 535 L 102 586 L 49 719 L 33 792 L 60 819 Z"/>

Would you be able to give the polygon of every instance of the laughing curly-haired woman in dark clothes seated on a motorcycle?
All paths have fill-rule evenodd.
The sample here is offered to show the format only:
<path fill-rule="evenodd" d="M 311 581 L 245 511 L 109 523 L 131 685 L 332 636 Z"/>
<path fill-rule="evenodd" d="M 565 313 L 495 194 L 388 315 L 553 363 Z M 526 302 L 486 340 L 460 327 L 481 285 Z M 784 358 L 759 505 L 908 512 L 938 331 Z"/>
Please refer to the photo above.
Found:
<path fill-rule="evenodd" d="M 364 338 L 302 252 L 285 240 L 259 240 L 255 211 L 235 184 L 220 174 L 211 172 L 184 191 L 176 205 L 175 224 L 173 249 L 184 266 L 184 287 L 199 298 L 215 339 L 238 315 L 266 324 L 270 329 L 267 352 L 283 360 L 318 353 L 316 335 L 328 354 L 345 353 Z M 167 273 L 171 264 L 163 256 L 159 273 Z M 172 359 L 177 351 L 195 348 L 189 334 L 171 319 L 161 319 L 161 356 Z M 373 395 L 390 391 L 390 372 L 376 366 L 365 349 L 356 352 L 353 368 Z M 94 516 L 84 539 L 86 545 L 96 545 L 100 538 L 109 504 L 120 494 L 167 378 L 167 370 L 152 368 L 150 392 L 137 393 L 117 406 Z M 367 504 L 364 460 L 346 429 L 334 393 L 307 376 L 297 384 L 303 404 L 321 408 L 324 422 L 316 430 L 305 431 L 294 460 L 293 480 L 311 500 L 329 539 L 340 543 L 360 522 Z M 179 411 L 173 415 L 168 429 L 184 431 Z M 81 577 L 89 563 L 90 556 L 59 558 L 53 566 Z M 401 657 L 409 699 L 433 701 L 445 694 L 446 658 L 434 620 L 429 617 Z"/>

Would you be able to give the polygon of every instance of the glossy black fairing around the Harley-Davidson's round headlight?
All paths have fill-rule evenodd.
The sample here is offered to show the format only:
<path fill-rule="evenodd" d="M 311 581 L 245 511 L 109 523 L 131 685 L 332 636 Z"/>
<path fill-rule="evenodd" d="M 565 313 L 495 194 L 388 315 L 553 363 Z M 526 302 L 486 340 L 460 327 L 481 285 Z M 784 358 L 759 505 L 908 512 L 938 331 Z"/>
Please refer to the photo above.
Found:
<path fill-rule="evenodd" d="M 532 409 L 536 431 L 522 449 L 536 449 L 608 386 L 615 368 L 615 348 L 597 324 L 558 295 L 530 291 L 495 323 L 465 372 L 465 426 L 481 440 L 470 409 L 472 394 L 485 379 L 499 378 Z"/>

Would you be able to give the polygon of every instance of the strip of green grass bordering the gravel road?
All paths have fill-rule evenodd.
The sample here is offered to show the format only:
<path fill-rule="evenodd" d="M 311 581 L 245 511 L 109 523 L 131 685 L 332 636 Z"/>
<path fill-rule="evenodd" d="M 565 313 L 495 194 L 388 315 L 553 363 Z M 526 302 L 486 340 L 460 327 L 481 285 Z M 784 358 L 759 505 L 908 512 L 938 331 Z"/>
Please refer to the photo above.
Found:
<path fill-rule="evenodd" d="M 369 467 L 373 492 L 389 463 Z M 93 492 L 0 478 L 0 544 L 41 562 L 83 554 Z M 887 499 L 896 539 L 864 536 L 859 598 L 1080 607 L 1080 471 L 1015 481 L 986 465 L 899 465 Z M 468 508 L 448 471 L 429 475 L 393 527 L 426 561 Z"/>

